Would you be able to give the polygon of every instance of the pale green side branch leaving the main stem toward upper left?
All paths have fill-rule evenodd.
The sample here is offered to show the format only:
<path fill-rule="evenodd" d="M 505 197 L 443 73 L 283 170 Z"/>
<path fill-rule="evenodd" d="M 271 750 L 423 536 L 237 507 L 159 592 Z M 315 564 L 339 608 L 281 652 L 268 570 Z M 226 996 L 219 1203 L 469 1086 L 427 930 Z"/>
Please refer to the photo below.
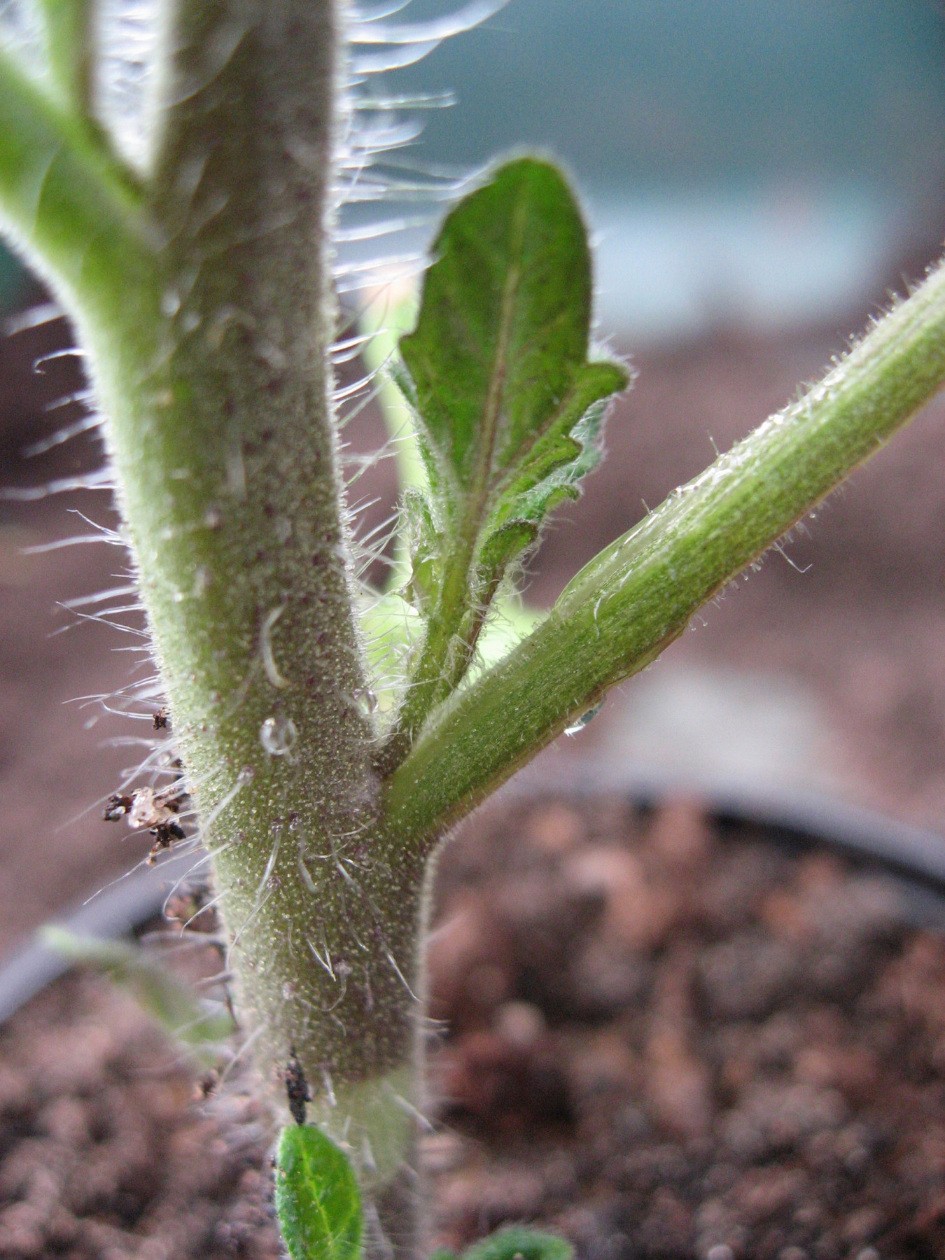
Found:
<path fill-rule="evenodd" d="M 151 267 L 137 189 L 3 52 L 0 226 L 86 319 L 117 318 Z"/>

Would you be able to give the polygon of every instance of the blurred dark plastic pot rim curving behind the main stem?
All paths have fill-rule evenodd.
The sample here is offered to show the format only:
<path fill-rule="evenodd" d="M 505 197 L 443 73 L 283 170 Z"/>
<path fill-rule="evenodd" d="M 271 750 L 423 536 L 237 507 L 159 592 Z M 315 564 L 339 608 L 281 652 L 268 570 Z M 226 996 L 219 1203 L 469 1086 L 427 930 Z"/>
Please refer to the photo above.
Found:
<path fill-rule="evenodd" d="M 736 780 L 693 781 L 679 776 L 639 774 L 596 762 L 568 759 L 556 766 L 518 775 L 499 799 L 593 796 L 620 794 L 646 808 L 680 798 L 698 800 L 719 823 L 765 827 L 785 839 L 822 845 L 854 861 L 905 878 L 920 896 L 935 903 L 930 921 L 945 917 L 945 838 L 861 809 L 837 798 L 789 788 L 766 788 Z M 166 854 L 152 867 L 141 867 L 88 898 L 58 926 L 78 936 L 116 940 L 131 935 L 159 915 L 169 893 L 199 864 L 199 854 Z M 184 868 L 181 862 L 188 862 Z M 42 989 L 71 970 L 72 963 L 38 935 L 15 950 L 0 966 L 0 1023 L 9 1019 Z"/>

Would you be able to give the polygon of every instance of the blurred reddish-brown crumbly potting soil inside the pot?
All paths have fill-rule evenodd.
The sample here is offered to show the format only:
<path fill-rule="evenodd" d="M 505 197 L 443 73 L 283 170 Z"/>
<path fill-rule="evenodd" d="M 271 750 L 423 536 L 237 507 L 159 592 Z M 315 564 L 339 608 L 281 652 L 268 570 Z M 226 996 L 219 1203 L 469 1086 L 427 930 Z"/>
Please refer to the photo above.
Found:
<path fill-rule="evenodd" d="M 433 1241 L 532 1221 L 581 1260 L 945 1256 L 945 937 L 907 902 L 697 803 L 472 819 L 430 946 Z M 30 1003 L 0 1032 L 0 1256 L 277 1256 L 271 1121 L 223 1071 L 101 978 Z"/>

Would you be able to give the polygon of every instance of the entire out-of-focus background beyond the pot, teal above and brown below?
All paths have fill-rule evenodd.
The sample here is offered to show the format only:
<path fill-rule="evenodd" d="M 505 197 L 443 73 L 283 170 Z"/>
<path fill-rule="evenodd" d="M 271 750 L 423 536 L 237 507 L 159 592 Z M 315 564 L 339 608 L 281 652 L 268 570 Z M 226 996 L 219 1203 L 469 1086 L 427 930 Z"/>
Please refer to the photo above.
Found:
<path fill-rule="evenodd" d="M 436 23 L 451 8 L 412 0 L 375 14 Z M 572 171 L 593 229 L 597 334 L 639 373 L 611 417 L 609 460 L 532 564 L 528 598 L 547 605 L 939 256 L 945 9 L 510 0 L 466 34 L 436 33 L 393 55 L 355 49 L 355 73 L 370 76 L 363 92 L 431 107 L 388 111 L 403 129 L 382 164 L 392 190 L 345 209 L 349 236 L 402 215 L 391 248 L 410 260 L 452 180 L 496 154 L 547 150 Z M 341 246 L 355 266 L 377 252 L 375 239 Z M 108 495 L 9 496 L 100 462 L 93 433 L 49 445 L 86 408 L 78 398 L 49 410 L 81 392 L 76 359 L 34 370 L 72 345 L 64 321 L 24 314 L 45 300 L 0 255 L 0 949 L 141 850 L 88 809 L 132 756 L 103 743 L 127 727 L 110 727 L 101 706 L 67 703 L 127 678 L 132 658 L 110 651 L 127 636 L 76 625 L 62 607 L 123 558 L 107 546 L 35 551 L 93 532 L 82 517 L 113 524 Z M 348 436 L 379 444 L 377 412 L 364 408 Z M 591 759 L 694 790 L 726 779 L 827 791 L 945 828 L 944 438 L 939 402 L 533 772 Z M 389 510 L 392 472 L 382 465 L 359 486 L 378 498 L 364 528 Z"/>

